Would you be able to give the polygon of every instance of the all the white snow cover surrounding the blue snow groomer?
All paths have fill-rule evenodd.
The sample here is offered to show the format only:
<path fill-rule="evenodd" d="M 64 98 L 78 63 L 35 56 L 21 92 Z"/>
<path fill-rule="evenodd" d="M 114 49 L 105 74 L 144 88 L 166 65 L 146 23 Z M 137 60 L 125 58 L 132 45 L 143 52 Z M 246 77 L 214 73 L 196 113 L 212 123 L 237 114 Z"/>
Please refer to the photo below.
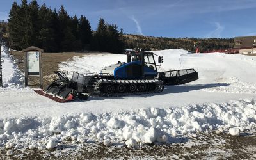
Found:
<path fill-rule="evenodd" d="M 199 80 L 165 86 L 159 94 L 90 97 L 60 104 L 23 88 L 24 76 L 4 52 L 0 88 L 0 147 L 51 149 L 67 138 L 74 143 L 102 141 L 127 147 L 172 143 L 177 135 L 218 131 L 239 135 L 256 127 L 256 58 L 237 54 L 154 51 L 164 56 L 159 70 L 195 68 Z M 64 62 L 60 70 L 100 72 L 125 61 L 119 54 L 91 54 Z M 18 145 L 19 144 L 19 145 Z"/>

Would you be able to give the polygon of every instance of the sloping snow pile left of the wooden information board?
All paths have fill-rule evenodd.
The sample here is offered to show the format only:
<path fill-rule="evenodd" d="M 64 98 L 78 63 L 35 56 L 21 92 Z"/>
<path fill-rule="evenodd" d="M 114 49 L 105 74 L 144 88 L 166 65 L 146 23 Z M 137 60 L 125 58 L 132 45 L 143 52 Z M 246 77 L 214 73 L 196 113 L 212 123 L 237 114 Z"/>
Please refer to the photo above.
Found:
<path fill-rule="evenodd" d="M 13 60 L 12 56 L 8 54 L 8 51 L 4 49 L 4 46 L 1 46 L 1 56 L 2 56 L 2 74 L 3 74 L 3 88 L 2 90 L 8 89 L 19 89 L 24 88 L 22 83 L 24 81 L 24 76 L 20 72 L 15 62 L 17 60 Z"/>

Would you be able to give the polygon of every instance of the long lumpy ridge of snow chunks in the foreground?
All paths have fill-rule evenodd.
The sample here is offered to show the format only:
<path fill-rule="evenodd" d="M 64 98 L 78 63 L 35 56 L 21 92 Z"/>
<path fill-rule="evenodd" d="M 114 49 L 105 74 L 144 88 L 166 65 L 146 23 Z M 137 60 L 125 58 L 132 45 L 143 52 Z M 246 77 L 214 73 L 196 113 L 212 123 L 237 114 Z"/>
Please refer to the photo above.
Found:
<path fill-rule="evenodd" d="M 147 108 L 122 113 L 82 113 L 54 118 L 0 120 L 0 146 L 51 150 L 67 140 L 99 141 L 127 147 L 145 143 L 172 143 L 175 137 L 196 132 L 225 131 L 232 135 L 256 128 L 256 103 L 238 100 L 223 104 L 180 108 Z M 19 144 L 19 145 L 17 145 Z"/>

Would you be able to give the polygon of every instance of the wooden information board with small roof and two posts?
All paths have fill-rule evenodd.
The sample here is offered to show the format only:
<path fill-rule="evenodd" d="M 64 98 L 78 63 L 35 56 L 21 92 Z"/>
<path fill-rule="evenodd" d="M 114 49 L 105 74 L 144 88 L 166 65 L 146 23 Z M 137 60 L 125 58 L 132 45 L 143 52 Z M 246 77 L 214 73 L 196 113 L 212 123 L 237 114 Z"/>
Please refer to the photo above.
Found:
<path fill-rule="evenodd" d="M 25 87 L 27 86 L 40 86 L 43 87 L 43 76 L 42 76 L 42 52 L 43 49 L 38 47 L 28 47 L 22 50 L 24 53 L 24 63 L 25 63 Z M 29 85 L 29 79 L 31 77 L 38 77 L 40 84 Z"/>

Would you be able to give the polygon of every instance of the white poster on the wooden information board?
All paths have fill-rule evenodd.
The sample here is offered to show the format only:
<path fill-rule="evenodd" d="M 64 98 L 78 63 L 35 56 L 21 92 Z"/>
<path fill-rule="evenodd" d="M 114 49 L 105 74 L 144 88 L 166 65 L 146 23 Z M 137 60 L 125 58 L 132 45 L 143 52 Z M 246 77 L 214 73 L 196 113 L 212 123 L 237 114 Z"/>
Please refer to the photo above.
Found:
<path fill-rule="evenodd" d="M 39 52 L 27 52 L 29 76 L 40 76 Z"/>

